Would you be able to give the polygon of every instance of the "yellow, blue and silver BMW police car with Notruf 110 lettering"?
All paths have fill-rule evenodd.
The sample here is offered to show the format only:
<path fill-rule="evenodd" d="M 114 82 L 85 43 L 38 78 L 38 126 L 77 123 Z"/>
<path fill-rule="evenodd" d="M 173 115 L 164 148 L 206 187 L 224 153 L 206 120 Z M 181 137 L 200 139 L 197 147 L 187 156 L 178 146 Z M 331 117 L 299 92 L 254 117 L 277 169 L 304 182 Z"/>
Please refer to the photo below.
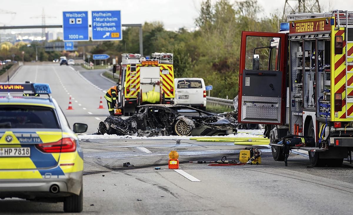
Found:
<path fill-rule="evenodd" d="M 75 133 L 87 125 L 75 123 L 71 131 L 47 84 L 0 83 L 0 93 L 6 93 L 0 97 L 0 198 L 64 202 L 65 212 L 82 211 L 83 152 Z"/>

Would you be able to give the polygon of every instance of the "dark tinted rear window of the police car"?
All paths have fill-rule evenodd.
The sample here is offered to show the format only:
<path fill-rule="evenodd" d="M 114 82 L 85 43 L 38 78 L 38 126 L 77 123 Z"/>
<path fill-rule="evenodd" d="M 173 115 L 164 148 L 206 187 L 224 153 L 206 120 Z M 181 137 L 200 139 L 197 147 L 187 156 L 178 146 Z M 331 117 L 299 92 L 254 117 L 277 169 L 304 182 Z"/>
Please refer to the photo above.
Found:
<path fill-rule="evenodd" d="M 0 128 L 60 128 L 52 108 L 0 105 Z"/>

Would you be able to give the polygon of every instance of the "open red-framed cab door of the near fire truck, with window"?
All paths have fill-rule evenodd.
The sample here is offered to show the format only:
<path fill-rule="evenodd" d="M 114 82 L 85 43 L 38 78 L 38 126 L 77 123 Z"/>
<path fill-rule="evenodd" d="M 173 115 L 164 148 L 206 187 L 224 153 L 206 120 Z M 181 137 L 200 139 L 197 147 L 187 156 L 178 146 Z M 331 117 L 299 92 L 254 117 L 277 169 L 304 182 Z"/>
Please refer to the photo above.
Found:
<path fill-rule="evenodd" d="M 281 125 L 286 115 L 286 33 L 241 34 L 238 122 Z"/>

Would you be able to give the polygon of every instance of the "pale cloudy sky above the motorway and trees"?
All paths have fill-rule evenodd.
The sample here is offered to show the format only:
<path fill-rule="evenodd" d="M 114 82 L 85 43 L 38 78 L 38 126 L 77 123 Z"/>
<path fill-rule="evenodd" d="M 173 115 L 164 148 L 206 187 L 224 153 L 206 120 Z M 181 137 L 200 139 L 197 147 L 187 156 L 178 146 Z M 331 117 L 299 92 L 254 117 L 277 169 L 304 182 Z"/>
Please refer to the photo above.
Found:
<path fill-rule="evenodd" d="M 167 30 L 193 29 L 203 0 L 0 0 L 0 25 L 41 25 L 42 9 L 46 24 L 62 24 L 62 11 L 121 10 L 122 24 L 161 21 Z M 211 0 L 216 2 L 217 0 Z M 241 0 L 240 0 L 241 1 Z M 289 0 L 290 2 L 295 2 Z M 235 0 L 229 0 L 233 3 Z M 285 0 L 258 0 L 267 16 L 278 10 L 282 15 Z M 292 3 L 293 4 L 293 3 Z M 327 12 L 332 9 L 353 11 L 353 0 L 319 0 Z M 6 14 L 5 11 L 16 12 Z M 90 15 L 89 15 L 90 16 Z M 38 18 L 31 18 L 38 17 Z M 56 30 L 59 31 L 60 29 Z M 24 30 L 15 30 L 21 32 Z M 40 32 L 41 30 L 36 30 Z"/>

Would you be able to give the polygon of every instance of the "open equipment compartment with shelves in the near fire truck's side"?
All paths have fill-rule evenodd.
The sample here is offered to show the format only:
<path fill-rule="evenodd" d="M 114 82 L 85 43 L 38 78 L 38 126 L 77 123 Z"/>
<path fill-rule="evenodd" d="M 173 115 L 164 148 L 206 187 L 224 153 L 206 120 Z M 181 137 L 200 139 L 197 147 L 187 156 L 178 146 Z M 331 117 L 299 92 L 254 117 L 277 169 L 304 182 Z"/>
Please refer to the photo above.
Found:
<path fill-rule="evenodd" d="M 312 116 L 314 128 L 315 118 L 330 120 L 330 38 L 308 35 L 304 39 L 291 39 L 290 49 L 293 71 L 290 81 L 291 131 L 292 134 L 306 136 L 310 135 L 307 116 Z M 318 128 L 315 130 L 318 132 Z"/>

